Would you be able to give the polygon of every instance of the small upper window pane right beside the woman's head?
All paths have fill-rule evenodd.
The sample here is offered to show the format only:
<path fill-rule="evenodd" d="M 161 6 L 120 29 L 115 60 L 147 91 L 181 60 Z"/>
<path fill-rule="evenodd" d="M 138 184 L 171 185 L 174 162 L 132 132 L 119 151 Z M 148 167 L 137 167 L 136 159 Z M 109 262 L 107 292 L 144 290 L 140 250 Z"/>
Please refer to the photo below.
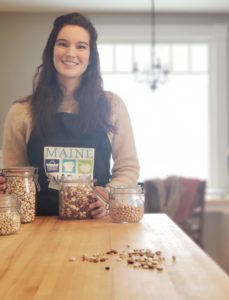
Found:
<path fill-rule="evenodd" d="M 114 47 L 112 44 L 98 45 L 100 66 L 102 72 L 114 71 Z"/>

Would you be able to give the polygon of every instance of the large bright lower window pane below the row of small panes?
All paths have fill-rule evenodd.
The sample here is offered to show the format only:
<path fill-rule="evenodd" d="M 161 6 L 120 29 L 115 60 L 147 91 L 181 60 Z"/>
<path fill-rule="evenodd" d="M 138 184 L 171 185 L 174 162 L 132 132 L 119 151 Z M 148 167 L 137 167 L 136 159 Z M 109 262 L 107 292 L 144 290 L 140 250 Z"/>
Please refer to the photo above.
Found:
<path fill-rule="evenodd" d="M 104 84 L 128 108 L 140 180 L 208 177 L 208 75 L 170 75 L 154 93 L 131 75 L 105 75 Z"/>

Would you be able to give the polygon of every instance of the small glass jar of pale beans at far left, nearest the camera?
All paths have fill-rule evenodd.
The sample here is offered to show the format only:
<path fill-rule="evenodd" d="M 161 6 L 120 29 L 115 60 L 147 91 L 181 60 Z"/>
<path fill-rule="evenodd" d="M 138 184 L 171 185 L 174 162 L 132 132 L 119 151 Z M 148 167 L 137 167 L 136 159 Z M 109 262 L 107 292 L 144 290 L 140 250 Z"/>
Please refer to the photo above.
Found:
<path fill-rule="evenodd" d="M 0 235 L 16 233 L 20 229 L 20 213 L 16 196 L 0 195 Z"/>

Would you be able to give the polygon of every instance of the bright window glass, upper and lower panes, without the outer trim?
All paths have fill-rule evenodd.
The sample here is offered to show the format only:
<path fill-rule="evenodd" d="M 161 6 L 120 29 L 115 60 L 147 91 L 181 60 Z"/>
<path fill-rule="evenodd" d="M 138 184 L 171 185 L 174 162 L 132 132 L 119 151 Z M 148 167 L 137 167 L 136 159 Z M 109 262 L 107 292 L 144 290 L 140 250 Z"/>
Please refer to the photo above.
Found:
<path fill-rule="evenodd" d="M 137 82 L 131 72 L 138 58 L 143 71 L 149 68 L 149 45 L 113 45 L 113 70 L 108 73 L 106 66 L 102 69 L 105 88 L 116 91 L 128 107 L 141 165 L 140 180 L 171 174 L 208 177 L 209 74 L 205 65 L 195 71 L 194 46 L 200 50 L 198 58 L 202 55 L 202 60 L 208 61 L 206 44 L 158 46 L 158 54 L 163 54 L 172 72 L 168 82 L 154 93 L 144 78 Z"/>

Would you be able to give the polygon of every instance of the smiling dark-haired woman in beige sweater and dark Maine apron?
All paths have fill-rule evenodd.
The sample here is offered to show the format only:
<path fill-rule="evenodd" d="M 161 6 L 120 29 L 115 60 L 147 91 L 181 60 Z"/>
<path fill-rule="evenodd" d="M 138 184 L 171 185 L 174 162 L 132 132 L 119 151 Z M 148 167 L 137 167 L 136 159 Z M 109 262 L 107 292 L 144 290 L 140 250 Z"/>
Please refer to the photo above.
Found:
<path fill-rule="evenodd" d="M 57 215 L 58 194 L 48 177 L 71 171 L 74 163 L 79 164 L 76 153 L 86 152 L 91 153 L 92 176 L 100 191 L 136 184 L 139 164 L 128 112 L 117 95 L 103 90 L 95 28 L 83 15 L 71 13 L 54 21 L 32 95 L 9 110 L 3 164 L 38 167 L 41 192 L 36 213 Z M 4 189 L 0 178 L 0 190 Z M 105 213 L 98 199 L 91 204 L 92 217 Z"/>

